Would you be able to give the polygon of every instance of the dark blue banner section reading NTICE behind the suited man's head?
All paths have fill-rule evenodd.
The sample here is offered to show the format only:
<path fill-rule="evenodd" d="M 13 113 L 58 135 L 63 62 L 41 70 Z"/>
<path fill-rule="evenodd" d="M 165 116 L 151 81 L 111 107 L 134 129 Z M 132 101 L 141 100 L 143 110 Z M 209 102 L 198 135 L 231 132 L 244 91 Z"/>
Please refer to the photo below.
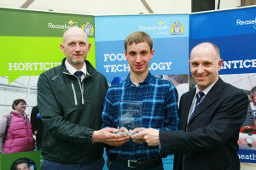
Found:
<path fill-rule="evenodd" d="M 191 14 L 189 48 L 200 42 L 218 46 L 224 59 L 220 74 L 256 72 L 256 8 Z"/>

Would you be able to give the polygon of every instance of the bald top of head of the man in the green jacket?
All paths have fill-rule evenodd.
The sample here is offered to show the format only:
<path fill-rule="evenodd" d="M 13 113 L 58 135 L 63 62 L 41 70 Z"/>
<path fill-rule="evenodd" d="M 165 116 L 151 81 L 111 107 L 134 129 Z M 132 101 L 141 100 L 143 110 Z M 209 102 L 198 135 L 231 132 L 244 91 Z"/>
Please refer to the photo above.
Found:
<path fill-rule="evenodd" d="M 73 27 L 69 28 L 67 31 L 64 32 L 62 43 L 64 45 L 67 44 L 68 38 L 71 37 L 71 36 L 73 37 L 75 35 L 79 35 L 79 36 L 83 37 L 85 42 L 88 42 L 88 37 L 87 37 L 86 33 L 81 28 L 79 28 L 78 26 L 73 26 Z"/>

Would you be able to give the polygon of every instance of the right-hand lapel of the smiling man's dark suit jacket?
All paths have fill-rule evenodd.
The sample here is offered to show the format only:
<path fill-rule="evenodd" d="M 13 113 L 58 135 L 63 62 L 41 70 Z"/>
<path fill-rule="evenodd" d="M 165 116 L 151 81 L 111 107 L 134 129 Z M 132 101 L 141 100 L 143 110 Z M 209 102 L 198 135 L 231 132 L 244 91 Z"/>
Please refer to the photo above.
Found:
<path fill-rule="evenodd" d="M 224 82 L 218 77 L 218 82 L 214 84 L 212 89 L 209 91 L 205 99 L 201 102 L 201 105 L 197 107 L 194 116 L 191 118 L 190 122 L 195 119 L 196 116 L 200 115 L 202 111 L 206 110 L 207 107 L 212 105 L 216 100 L 218 100 L 219 95 L 223 91 Z"/>

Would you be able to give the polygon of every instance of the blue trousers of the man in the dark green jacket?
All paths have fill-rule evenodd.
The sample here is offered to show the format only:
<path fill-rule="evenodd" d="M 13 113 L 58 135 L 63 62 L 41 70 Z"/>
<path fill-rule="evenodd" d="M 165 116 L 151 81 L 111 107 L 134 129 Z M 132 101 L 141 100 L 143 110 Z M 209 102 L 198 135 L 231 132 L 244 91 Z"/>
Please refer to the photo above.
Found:
<path fill-rule="evenodd" d="M 104 166 L 103 156 L 83 164 L 61 164 L 56 161 L 43 160 L 41 170 L 102 170 Z"/>

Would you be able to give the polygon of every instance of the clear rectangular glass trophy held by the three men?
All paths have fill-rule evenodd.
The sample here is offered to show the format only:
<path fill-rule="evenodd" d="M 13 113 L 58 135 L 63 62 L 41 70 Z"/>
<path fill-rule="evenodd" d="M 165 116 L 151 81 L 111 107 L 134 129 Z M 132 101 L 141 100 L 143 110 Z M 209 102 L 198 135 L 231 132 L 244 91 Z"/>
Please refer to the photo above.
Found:
<path fill-rule="evenodd" d="M 119 128 L 125 127 L 128 132 L 117 134 L 132 135 L 130 131 L 142 127 L 143 102 L 141 101 L 119 101 Z"/>

